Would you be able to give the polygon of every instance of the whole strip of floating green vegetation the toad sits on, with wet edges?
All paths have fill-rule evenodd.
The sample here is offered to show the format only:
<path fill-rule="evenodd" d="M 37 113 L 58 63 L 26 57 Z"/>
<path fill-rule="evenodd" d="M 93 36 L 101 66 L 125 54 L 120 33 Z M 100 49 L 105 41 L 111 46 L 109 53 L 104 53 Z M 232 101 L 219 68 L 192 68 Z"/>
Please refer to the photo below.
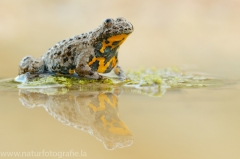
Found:
<path fill-rule="evenodd" d="M 44 75 L 33 78 L 31 81 L 19 83 L 18 88 L 53 88 L 64 87 L 62 93 L 71 89 L 80 91 L 112 90 L 121 87 L 124 90 L 150 96 L 162 96 L 169 89 L 202 88 L 222 85 L 222 81 L 201 75 L 188 74 L 176 67 L 166 69 L 139 69 L 128 70 L 128 79 L 120 80 L 113 74 L 105 75 L 102 80 L 84 79 L 77 76 Z M 21 77 L 22 78 L 22 77 Z M 6 82 L 5 82 L 6 83 Z M 8 82 L 16 87 L 16 82 Z M 56 93 L 57 89 L 50 94 Z"/>

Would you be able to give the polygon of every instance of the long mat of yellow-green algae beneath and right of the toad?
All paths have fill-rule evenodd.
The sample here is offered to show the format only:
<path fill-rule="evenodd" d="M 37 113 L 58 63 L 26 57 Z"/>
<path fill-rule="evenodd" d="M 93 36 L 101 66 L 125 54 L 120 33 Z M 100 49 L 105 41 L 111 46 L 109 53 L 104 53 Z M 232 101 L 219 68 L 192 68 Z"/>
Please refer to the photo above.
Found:
<path fill-rule="evenodd" d="M 137 85 L 139 87 L 168 86 L 170 88 L 199 88 L 220 84 L 219 80 L 210 79 L 199 75 L 189 75 L 176 68 L 128 70 L 126 74 L 128 79 L 124 81 L 110 77 L 108 75 L 106 75 L 106 77 L 102 80 L 78 79 L 74 77 L 64 76 L 47 76 L 42 78 L 35 78 L 28 83 L 23 83 L 23 85 L 38 86 L 61 84 L 65 87 L 72 87 L 88 84 L 105 84 L 109 86 Z"/>

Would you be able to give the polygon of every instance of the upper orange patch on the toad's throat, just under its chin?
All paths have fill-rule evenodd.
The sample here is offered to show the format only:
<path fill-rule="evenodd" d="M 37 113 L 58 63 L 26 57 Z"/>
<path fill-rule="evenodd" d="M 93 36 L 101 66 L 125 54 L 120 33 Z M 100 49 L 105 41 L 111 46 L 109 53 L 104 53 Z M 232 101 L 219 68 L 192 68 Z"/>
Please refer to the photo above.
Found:
<path fill-rule="evenodd" d="M 100 52 L 104 53 L 104 50 L 108 46 L 111 48 L 111 50 L 117 46 L 120 46 L 126 40 L 127 37 L 128 34 L 120 34 L 107 38 L 107 40 L 104 40 L 102 42 L 102 48 L 100 49 Z"/>

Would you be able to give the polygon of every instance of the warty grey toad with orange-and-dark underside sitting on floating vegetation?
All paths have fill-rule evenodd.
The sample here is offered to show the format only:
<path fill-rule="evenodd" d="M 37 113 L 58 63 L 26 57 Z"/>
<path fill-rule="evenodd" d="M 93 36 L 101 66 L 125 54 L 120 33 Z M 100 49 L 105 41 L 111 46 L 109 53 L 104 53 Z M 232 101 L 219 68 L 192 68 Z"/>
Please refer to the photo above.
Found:
<path fill-rule="evenodd" d="M 98 73 L 112 69 L 122 79 L 126 76 L 118 65 L 118 49 L 133 32 L 133 25 L 124 18 L 106 19 L 97 29 L 58 42 L 41 58 L 26 56 L 19 65 L 19 75 L 29 72 L 73 74 L 101 79 Z"/>

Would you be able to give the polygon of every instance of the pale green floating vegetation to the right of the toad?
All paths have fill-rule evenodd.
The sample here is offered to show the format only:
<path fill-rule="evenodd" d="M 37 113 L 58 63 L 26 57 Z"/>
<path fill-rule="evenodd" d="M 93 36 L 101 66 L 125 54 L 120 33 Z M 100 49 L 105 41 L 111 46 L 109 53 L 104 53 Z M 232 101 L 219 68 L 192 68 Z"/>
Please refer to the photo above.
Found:
<path fill-rule="evenodd" d="M 141 69 L 139 71 L 130 70 L 128 71 L 128 77 L 138 82 L 141 86 L 158 85 L 169 88 L 201 88 L 222 84 L 221 80 L 187 74 L 176 67 L 167 69 Z"/>

